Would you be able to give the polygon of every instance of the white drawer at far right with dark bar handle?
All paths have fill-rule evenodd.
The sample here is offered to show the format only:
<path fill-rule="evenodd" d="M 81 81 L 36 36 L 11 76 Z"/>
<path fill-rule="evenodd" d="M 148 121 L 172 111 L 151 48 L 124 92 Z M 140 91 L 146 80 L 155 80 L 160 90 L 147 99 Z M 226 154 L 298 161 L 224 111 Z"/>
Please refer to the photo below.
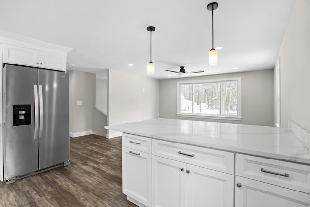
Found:
<path fill-rule="evenodd" d="M 236 154 L 236 175 L 310 193 L 310 166 Z"/>

